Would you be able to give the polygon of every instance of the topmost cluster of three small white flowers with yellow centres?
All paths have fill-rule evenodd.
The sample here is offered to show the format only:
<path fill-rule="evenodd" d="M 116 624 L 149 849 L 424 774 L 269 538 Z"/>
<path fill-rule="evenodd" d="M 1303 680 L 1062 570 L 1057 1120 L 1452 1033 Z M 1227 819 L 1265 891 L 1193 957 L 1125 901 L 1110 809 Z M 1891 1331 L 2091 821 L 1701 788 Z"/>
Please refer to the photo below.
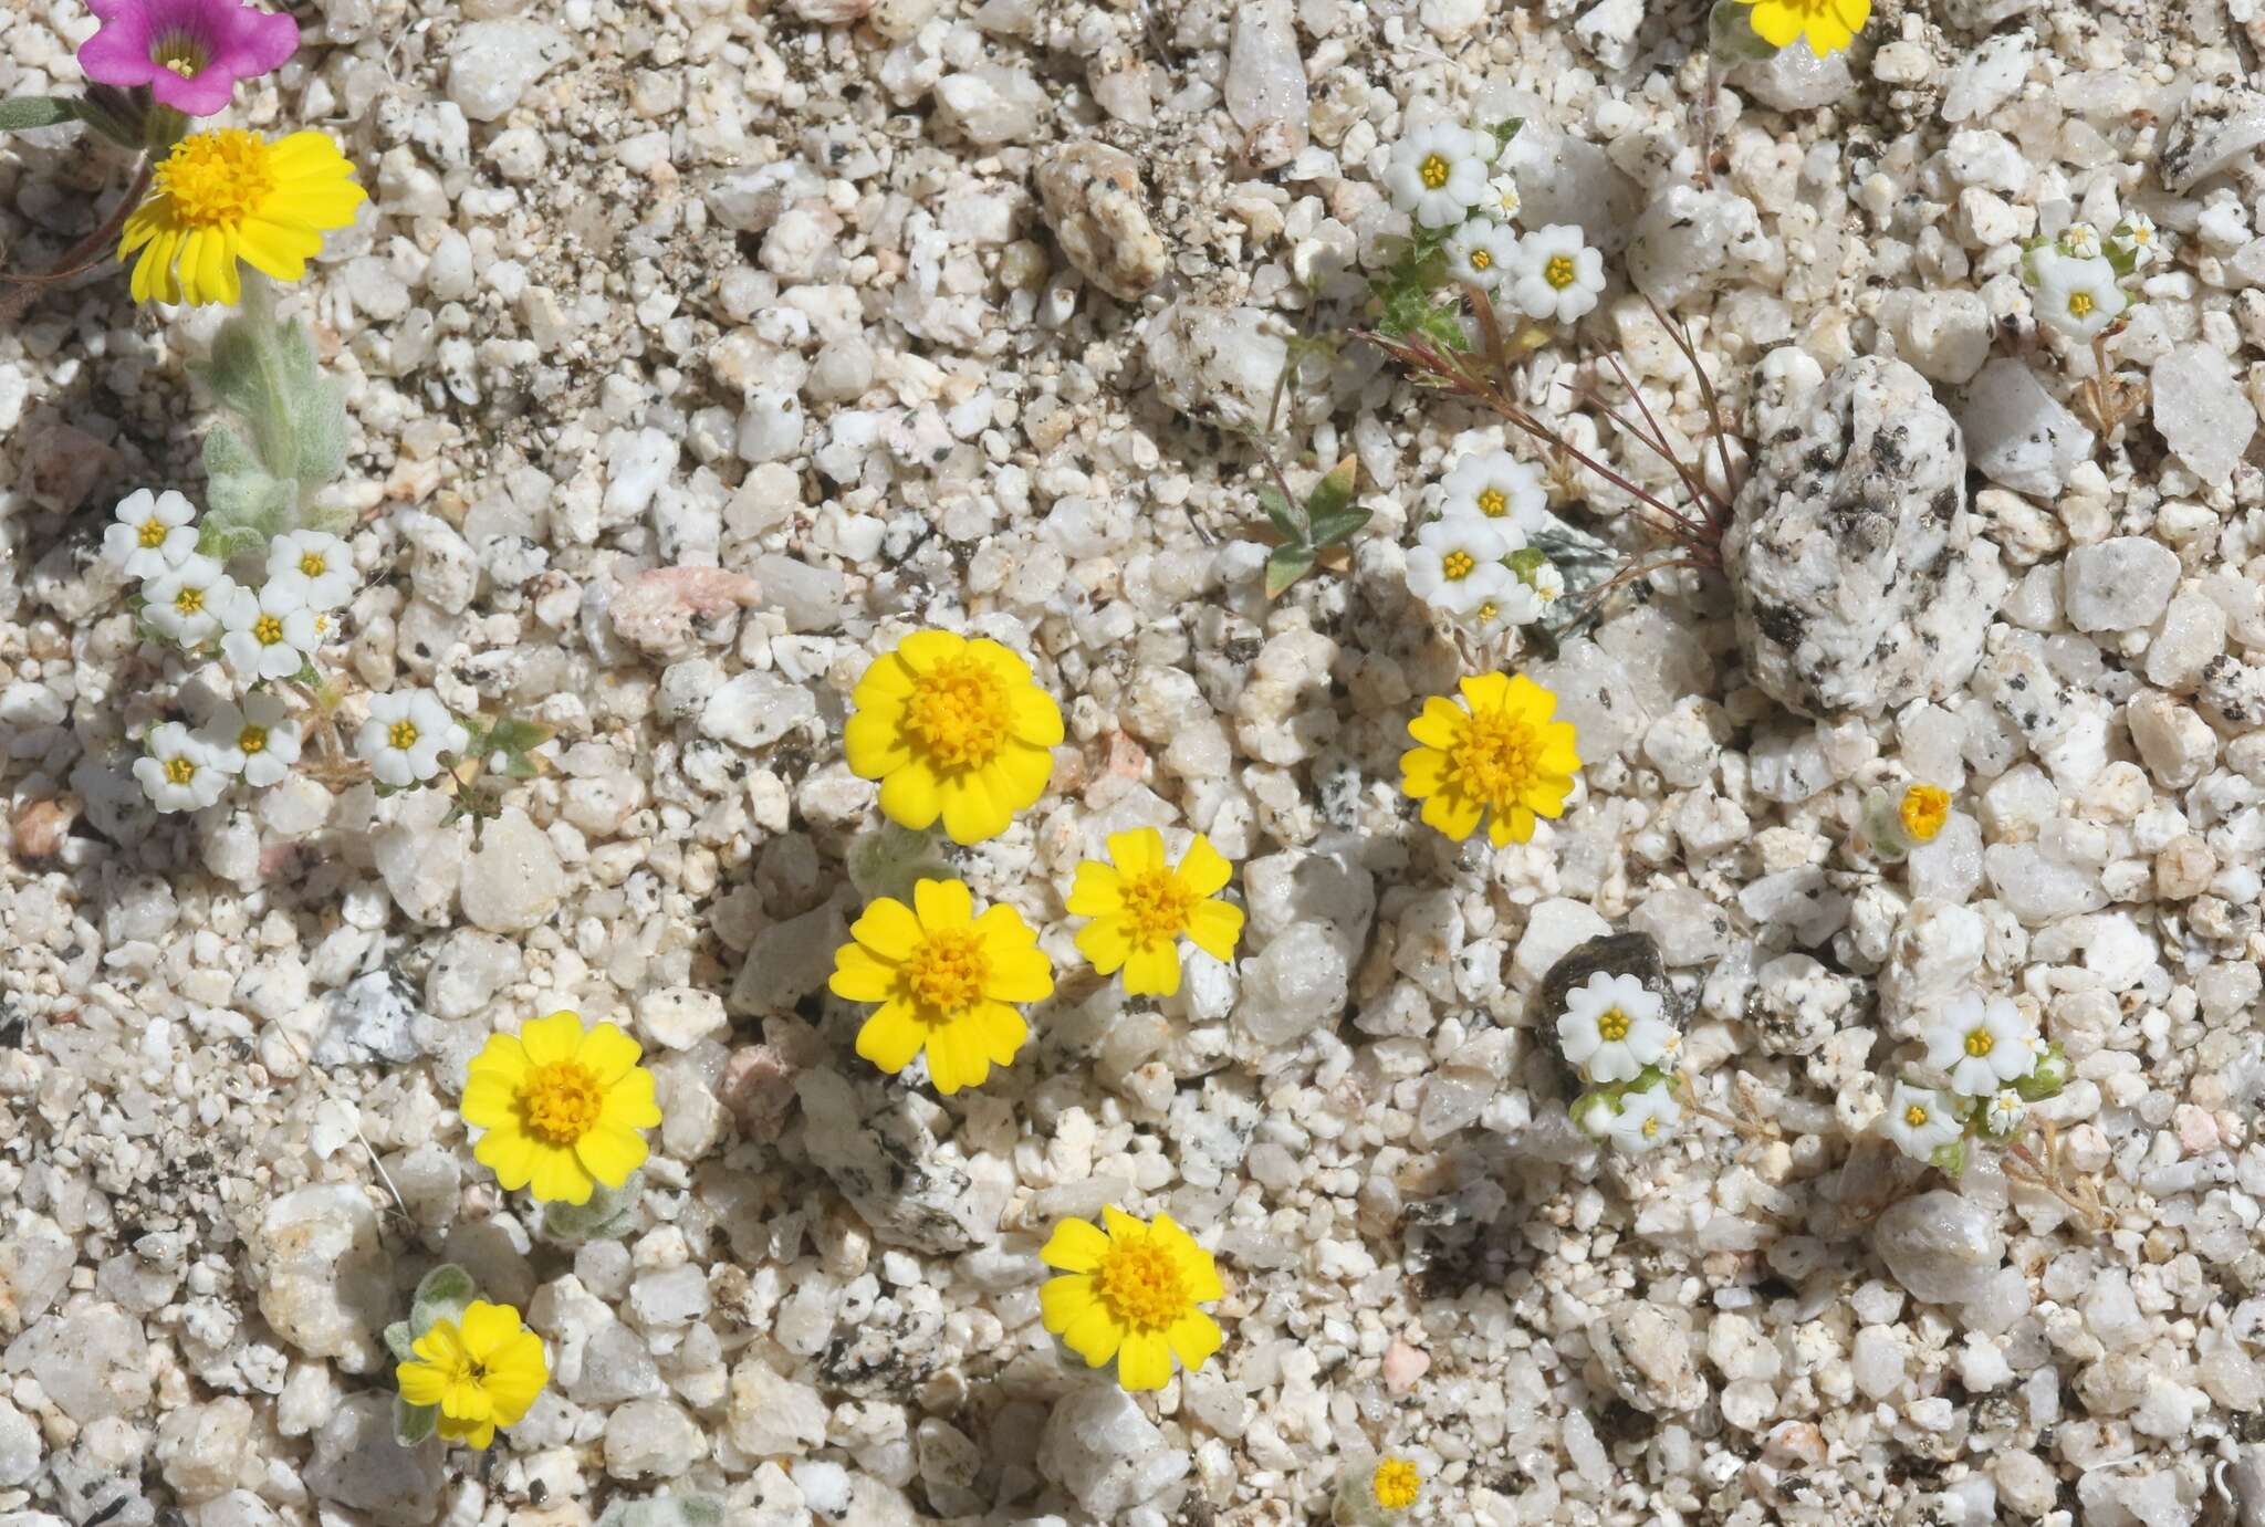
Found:
<path fill-rule="evenodd" d="M 1384 188 L 1420 229 L 1447 229 L 1441 251 L 1456 281 L 1531 319 L 1572 324 L 1604 292 L 1604 256 L 1570 222 L 1518 233 L 1518 184 L 1497 172 L 1502 154 L 1490 131 L 1418 127 L 1393 145 Z"/>

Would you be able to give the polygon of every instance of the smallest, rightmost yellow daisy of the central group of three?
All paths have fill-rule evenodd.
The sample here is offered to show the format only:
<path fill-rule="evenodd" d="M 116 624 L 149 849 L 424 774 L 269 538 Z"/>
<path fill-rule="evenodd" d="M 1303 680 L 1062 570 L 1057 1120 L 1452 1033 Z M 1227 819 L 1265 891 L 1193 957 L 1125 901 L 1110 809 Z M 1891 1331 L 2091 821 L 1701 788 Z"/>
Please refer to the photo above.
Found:
<path fill-rule="evenodd" d="M 1155 827 L 1110 834 L 1110 863 L 1087 859 L 1069 888 L 1069 911 L 1092 918 L 1078 952 L 1110 976 L 1126 972 L 1132 997 L 1180 990 L 1180 938 L 1219 961 L 1234 958 L 1243 908 L 1214 899 L 1234 875 L 1200 831 L 1178 865 L 1164 859 Z"/>

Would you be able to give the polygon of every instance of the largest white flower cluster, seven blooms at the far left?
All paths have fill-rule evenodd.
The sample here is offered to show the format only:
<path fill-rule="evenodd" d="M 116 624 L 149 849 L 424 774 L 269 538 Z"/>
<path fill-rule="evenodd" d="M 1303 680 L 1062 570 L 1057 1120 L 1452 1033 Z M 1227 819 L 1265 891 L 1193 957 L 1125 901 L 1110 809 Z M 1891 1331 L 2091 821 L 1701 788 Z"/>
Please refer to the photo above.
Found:
<path fill-rule="evenodd" d="M 322 530 L 279 535 L 258 587 L 245 587 L 197 551 L 193 519 L 181 494 L 140 489 L 102 537 L 102 553 L 140 580 L 143 623 L 186 652 L 217 652 L 245 686 L 197 727 L 149 727 L 134 777 L 159 811 L 202 811 L 236 779 L 265 788 L 292 770 L 306 732 L 276 686 L 308 673 L 358 587 L 351 548 Z M 376 696 L 369 716 L 356 743 L 387 786 L 430 779 L 442 752 L 471 743 L 430 691 Z"/>

